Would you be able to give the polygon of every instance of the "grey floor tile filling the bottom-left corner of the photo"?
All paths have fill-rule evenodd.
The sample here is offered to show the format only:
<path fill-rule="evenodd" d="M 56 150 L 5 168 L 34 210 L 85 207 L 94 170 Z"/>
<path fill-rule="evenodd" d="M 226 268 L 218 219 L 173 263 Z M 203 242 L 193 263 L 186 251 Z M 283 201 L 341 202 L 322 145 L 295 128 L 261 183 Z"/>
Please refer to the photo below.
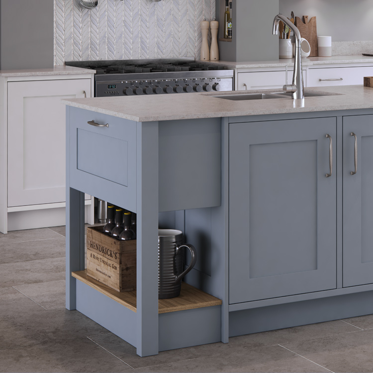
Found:
<path fill-rule="evenodd" d="M 0 351 L 0 372 L 133 372 L 88 338 Z"/>

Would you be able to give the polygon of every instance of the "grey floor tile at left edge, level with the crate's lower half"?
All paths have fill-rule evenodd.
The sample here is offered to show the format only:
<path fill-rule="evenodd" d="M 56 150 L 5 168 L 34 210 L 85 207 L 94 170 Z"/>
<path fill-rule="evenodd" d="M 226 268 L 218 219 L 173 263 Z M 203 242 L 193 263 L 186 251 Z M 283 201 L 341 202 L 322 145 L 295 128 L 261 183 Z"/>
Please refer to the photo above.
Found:
<path fill-rule="evenodd" d="M 0 264 L 0 274 L 0 287 L 64 280 L 65 258 L 31 260 L 11 265 Z"/>

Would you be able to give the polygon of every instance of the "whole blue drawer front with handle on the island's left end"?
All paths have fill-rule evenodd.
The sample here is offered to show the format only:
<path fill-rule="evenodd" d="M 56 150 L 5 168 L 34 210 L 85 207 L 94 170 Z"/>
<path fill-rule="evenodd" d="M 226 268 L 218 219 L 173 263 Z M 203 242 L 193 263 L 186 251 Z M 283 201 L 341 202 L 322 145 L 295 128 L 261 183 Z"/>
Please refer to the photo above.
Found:
<path fill-rule="evenodd" d="M 136 212 L 136 122 L 68 111 L 70 186 Z"/>

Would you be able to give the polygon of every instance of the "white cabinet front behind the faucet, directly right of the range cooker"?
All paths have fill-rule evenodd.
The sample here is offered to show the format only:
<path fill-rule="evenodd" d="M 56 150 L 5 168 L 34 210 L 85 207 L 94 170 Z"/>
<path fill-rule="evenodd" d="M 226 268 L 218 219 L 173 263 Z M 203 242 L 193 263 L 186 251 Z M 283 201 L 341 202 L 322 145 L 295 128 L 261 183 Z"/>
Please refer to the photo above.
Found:
<path fill-rule="evenodd" d="M 237 89 L 241 90 L 282 90 L 285 84 L 284 71 L 257 71 L 237 74 Z M 287 71 L 287 84 L 291 84 L 293 71 Z M 244 86 L 246 85 L 246 87 Z M 306 87 L 306 72 L 303 70 L 303 85 Z"/>

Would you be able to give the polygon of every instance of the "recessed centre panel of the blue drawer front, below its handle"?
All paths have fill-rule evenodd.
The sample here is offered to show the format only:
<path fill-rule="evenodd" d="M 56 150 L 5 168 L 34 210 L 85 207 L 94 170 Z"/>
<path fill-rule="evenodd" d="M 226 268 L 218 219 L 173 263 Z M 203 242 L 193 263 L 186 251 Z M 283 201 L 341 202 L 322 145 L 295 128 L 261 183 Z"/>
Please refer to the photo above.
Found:
<path fill-rule="evenodd" d="M 78 128 L 77 150 L 78 170 L 128 187 L 128 141 Z M 115 160 L 120 161 L 115 169 L 107 167 Z"/>

